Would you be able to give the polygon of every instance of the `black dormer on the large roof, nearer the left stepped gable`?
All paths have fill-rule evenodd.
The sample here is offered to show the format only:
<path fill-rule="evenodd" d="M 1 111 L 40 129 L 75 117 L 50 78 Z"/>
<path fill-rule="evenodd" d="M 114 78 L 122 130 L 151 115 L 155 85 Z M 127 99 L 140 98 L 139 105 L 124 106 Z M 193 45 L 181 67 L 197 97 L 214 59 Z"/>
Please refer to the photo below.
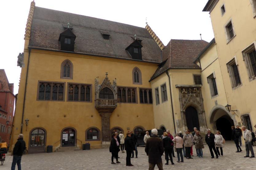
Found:
<path fill-rule="evenodd" d="M 63 51 L 74 51 L 76 35 L 71 31 L 70 28 L 60 33 L 59 41 L 61 43 L 61 50 Z"/>

